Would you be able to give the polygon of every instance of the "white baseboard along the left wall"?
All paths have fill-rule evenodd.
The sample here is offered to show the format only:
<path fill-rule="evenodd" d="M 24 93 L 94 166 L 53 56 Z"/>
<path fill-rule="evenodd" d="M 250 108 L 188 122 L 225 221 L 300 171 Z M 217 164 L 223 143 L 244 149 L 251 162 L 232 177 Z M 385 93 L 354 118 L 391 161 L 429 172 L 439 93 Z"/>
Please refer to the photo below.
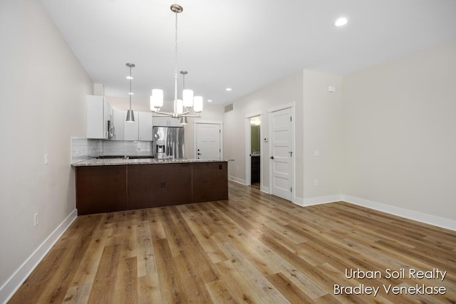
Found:
<path fill-rule="evenodd" d="M 78 211 L 74 209 L 70 215 L 58 225 L 51 235 L 41 243 L 38 248 L 29 256 L 26 261 L 19 267 L 19 269 L 13 273 L 13 275 L 4 283 L 0 288 L 0 303 L 6 304 L 9 299 L 16 293 L 21 287 L 22 283 L 26 281 L 26 278 L 30 276 L 33 269 L 38 266 L 38 263 L 46 256 L 48 251 L 51 250 L 52 246 L 60 239 L 62 234 L 68 229 L 73 221 L 78 217 Z"/>

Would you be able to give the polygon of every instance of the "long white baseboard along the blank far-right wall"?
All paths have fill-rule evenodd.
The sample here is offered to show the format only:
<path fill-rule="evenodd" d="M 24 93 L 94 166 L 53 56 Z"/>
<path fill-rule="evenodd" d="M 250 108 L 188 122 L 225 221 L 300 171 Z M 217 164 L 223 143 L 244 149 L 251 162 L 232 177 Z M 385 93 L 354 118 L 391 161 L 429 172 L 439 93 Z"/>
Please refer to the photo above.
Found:
<path fill-rule="evenodd" d="M 351 204 L 356 204 L 359 206 L 375 209 L 378 211 L 383 211 L 388 214 L 405 217 L 406 219 L 413 219 L 414 221 L 420 221 L 425 224 L 430 224 L 433 226 L 438 226 L 445 229 L 456 231 L 456 221 L 452 219 L 445 219 L 440 216 L 424 214 L 422 212 L 382 204 L 376 201 L 368 201 L 367 199 L 360 199 L 359 197 L 355 196 L 341 195 L 340 200 L 346 201 Z"/>

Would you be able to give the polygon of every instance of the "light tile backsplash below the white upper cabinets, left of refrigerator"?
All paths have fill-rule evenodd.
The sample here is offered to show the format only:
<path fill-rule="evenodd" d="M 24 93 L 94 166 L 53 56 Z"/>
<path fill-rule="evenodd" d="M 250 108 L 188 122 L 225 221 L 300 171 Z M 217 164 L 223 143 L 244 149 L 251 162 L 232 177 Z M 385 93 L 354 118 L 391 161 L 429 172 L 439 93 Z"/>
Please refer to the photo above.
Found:
<path fill-rule="evenodd" d="M 71 164 L 100 155 L 152 155 L 152 142 L 71 137 Z"/>

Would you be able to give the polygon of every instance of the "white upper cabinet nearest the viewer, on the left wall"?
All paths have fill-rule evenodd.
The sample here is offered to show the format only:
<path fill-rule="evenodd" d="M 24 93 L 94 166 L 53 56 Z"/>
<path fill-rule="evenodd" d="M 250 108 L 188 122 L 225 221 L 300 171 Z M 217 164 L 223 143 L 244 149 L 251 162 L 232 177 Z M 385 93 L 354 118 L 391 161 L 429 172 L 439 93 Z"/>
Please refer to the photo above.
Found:
<path fill-rule="evenodd" d="M 87 96 L 87 137 L 108 138 L 108 121 L 112 120 L 113 109 L 104 96 Z"/>

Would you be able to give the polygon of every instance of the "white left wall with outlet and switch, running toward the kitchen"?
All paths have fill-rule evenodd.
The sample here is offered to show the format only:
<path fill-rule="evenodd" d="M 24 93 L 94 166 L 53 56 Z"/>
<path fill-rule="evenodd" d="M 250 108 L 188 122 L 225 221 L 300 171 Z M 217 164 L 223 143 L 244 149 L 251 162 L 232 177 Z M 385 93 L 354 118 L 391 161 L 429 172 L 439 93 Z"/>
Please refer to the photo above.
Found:
<path fill-rule="evenodd" d="M 4 284 L 76 208 L 70 138 L 86 135 L 93 83 L 36 0 L 0 1 L 0 41 L 1 303 Z"/>

